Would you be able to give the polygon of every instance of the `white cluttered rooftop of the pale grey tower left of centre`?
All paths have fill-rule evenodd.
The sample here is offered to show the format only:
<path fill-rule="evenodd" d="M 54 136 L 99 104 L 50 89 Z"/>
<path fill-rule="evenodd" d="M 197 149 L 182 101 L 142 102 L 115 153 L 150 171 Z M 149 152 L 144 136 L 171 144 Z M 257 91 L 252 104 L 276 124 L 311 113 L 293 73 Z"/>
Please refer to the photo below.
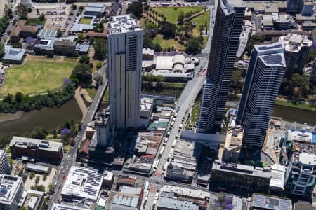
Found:
<path fill-rule="evenodd" d="M 117 15 L 112 17 L 108 24 L 109 34 L 126 33 L 129 31 L 140 31 L 140 25 L 131 15 Z"/>

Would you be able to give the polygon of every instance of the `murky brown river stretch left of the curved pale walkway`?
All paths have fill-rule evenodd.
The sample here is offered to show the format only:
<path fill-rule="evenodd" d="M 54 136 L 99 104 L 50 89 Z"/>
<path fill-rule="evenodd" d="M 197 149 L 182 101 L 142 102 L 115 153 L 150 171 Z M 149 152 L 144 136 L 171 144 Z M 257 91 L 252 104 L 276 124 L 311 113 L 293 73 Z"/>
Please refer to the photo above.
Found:
<path fill-rule="evenodd" d="M 43 108 L 23 113 L 16 120 L 0 123 L 0 134 L 23 134 L 31 132 L 34 127 L 41 126 L 53 130 L 66 120 L 81 120 L 81 111 L 75 100 L 63 104 L 60 108 Z"/>

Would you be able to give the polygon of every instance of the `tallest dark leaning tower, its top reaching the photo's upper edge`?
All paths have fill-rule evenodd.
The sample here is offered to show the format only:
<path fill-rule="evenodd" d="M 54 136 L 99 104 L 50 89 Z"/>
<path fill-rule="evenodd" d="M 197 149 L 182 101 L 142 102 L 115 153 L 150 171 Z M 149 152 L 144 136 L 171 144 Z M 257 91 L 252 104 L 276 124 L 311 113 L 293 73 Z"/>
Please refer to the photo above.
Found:
<path fill-rule="evenodd" d="M 197 132 L 215 132 L 220 128 L 234 69 L 245 6 L 242 0 L 220 0 Z"/>

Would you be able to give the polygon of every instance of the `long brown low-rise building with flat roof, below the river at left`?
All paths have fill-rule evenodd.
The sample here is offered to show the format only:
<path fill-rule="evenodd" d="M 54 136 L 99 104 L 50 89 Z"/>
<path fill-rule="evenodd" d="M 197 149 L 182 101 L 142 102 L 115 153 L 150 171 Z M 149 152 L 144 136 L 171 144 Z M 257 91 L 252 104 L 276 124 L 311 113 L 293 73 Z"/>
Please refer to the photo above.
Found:
<path fill-rule="evenodd" d="M 60 162 L 64 153 L 61 142 L 25 137 L 13 137 L 9 146 L 13 158 L 27 156 L 35 160 Z"/>

